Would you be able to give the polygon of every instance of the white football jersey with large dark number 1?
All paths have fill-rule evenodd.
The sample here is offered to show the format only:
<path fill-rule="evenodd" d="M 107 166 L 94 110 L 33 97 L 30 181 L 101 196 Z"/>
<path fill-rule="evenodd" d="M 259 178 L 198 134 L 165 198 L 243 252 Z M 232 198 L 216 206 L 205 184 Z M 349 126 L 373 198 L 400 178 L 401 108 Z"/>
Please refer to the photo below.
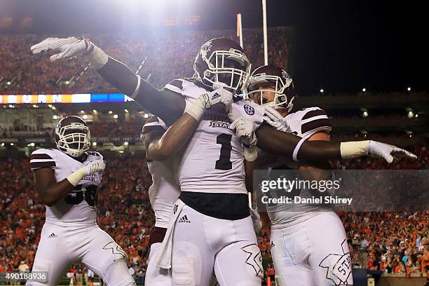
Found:
<path fill-rule="evenodd" d="M 186 109 L 207 90 L 191 80 L 175 79 L 164 89 L 184 96 Z M 240 100 L 232 113 L 252 121 L 257 128 L 264 121 L 265 108 Z M 182 191 L 200 193 L 245 193 L 244 149 L 231 120 L 219 109 L 207 109 L 182 156 L 175 160 Z"/>

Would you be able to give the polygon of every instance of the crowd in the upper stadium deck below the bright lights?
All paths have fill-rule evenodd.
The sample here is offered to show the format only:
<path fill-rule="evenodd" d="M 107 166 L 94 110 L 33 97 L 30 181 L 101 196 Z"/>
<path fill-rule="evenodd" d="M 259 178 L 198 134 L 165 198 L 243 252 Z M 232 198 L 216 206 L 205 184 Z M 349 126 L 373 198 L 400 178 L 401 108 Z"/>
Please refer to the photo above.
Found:
<path fill-rule="evenodd" d="M 264 49 L 261 31 L 247 29 L 243 32 L 247 56 L 254 67 L 262 64 Z M 67 60 L 55 64 L 46 55 L 32 55 L 30 46 L 52 35 L 0 35 L 0 90 L 2 93 L 118 93 L 93 69 L 79 75 L 86 67 L 83 60 Z M 64 35 L 57 35 L 64 37 Z M 238 40 L 236 31 L 177 32 L 175 34 L 97 34 L 88 37 L 115 57 L 162 88 L 165 83 L 193 74 L 193 60 L 200 46 L 215 37 Z M 292 29 L 268 29 L 268 57 L 272 64 L 287 67 Z M 20 62 L 17 67 L 16 62 Z M 167 68 L 166 68 L 167 67 Z M 30 76 L 31 75 L 31 76 Z M 37 75 L 37 76 L 33 76 Z"/>

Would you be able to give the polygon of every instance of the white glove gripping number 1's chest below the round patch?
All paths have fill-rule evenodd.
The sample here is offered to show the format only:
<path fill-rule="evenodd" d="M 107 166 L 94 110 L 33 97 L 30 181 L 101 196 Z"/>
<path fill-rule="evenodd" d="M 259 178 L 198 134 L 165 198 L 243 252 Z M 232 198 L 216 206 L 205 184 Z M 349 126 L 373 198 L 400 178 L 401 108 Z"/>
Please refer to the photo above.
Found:
<path fill-rule="evenodd" d="M 228 117 L 233 121 L 229 125 L 229 129 L 236 130 L 236 135 L 240 138 L 243 147 L 245 148 L 246 161 L 255 161 L 258 156 L 256 144 L 258 142 L 257 136 L 254 133 L 252 121 L 243 117 L 237 117 L 234 114 L 228 114 Z"/>

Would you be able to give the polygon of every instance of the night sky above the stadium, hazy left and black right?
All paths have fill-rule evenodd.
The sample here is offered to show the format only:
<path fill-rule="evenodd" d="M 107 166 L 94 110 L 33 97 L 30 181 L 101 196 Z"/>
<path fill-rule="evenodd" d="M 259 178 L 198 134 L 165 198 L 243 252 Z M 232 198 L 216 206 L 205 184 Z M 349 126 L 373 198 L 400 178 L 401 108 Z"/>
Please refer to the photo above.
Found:
<path fill-rule="evenodd" d="M 137 8 L 123 8 L 127 2 L 137 3 Z M 29 32 L 43 34 L 138 32 L 142 28 L 133 22 L 144 17 L 145 2 L 4 0 L 0 17 L 31 15 Z M 375 91 L 408 86 L 429 89 L 427 10 L 410 1 L 378 2 L 267 0 L 268 26 L 295 27 L 290 73 L 299 94 L 318 93 L 320 88 L 327 93 L 353 93 L 363 87 Z M 244 28 L 262 25 L 260 0 L 169 3 L 160 8 L 162 13 L 200 14 L 196 29 L 235 29 L 238 12 L 243 15 Z"/>

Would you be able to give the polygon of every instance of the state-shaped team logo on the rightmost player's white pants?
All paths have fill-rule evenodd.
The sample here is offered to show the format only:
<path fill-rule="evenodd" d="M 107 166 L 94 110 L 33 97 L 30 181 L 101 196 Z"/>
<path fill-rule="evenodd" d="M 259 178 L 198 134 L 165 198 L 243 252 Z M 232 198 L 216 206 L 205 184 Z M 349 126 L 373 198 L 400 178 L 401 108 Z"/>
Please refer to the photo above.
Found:
<path fill-rule="evenodd" d="M 332 280 L 336 286 L 348 285 L 347 280 L 352 271 L 347 240 L 343 240 L 341 248 L 342 254 L 329 254 L 319 264 L 320 267 L 327 268 L 326 278 Z"/>

